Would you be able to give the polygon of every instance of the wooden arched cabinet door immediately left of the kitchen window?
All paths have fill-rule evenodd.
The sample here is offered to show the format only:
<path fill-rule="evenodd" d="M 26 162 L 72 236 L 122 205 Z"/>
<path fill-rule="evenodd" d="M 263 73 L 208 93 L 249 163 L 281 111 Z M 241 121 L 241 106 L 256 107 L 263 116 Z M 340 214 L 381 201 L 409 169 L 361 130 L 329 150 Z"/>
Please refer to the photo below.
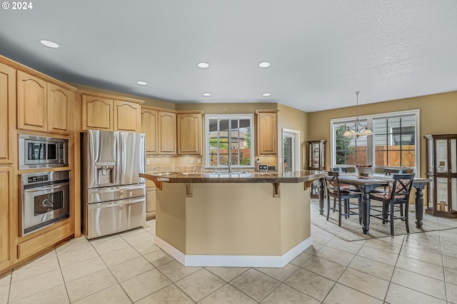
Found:
<path fill-rule="evenodd" d="M 178 154 L 201 155 L 201 114 L 179 113 Z"/>

